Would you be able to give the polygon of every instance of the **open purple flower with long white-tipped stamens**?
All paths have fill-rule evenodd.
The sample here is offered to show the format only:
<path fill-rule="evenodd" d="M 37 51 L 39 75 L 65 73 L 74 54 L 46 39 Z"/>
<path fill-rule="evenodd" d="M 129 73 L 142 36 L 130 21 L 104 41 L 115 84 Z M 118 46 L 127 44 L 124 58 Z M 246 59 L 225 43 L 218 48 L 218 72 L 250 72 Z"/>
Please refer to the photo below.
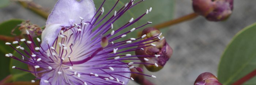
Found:
<path fill-rule="evenodd" d="M 124 37 L 127 38 L 127 33 L 151 24 L 151 22 L 145 22 L 140 27 L 127 28 L 148 14 L 152 8 L 145 10 L 145 13 L 136 19 L 127 20 L 122 27 L 115 28 L 113 24 L 117 19 L 144 0 L 136 2 L 130 0 L 121 9 L 114 11 L 118 1 L 103 16 L 102 5 L 105 0 L 97 10 L 92 0 L 81 0 L 80 2 L 59 0 L 48 17 L 46 28 L 42 32 L 42 41 L 39 38 L 33 41 L 33 37 L 27 31 L 29 37 L 27 41 L 26 39 L 20 40 L 25 44 L 24 46 L 18 41 L 14 41 L 12 44 L 6 43 L 20 55 L 14 56 L 8 53 L 5 56 L 29 65 L 29 70 L 15 66 L 12 68 L 34 74 L 36 78 L 31 79 L 31 82 L 40 80 L 41 85 L 127 84 L 129 80 L 133 80 L 130 77 L 131 73 L 155 78 L 153 75 L 130 71 L 130 69 L 140 69 L 133 66 L 134 64 L 155 65 L 154 63 L 123 62 L 123 60 L 141 60 L 136 57 L 144 55 L 136 56 L 127 53 L 142 50 L 138 47 L 139 45 L 155 46 L 146 44 L 158 41 L 158 35 L 144 40 L 140 40 L 143 38 L 142 36 L 137 39 L 129 37 L 124 41 L 116 41 Z M 106 18 L 106 16 L 110 16 L 110 18 Z M 102 22 L 102 20 L 107 21 Z M 123 29 L 131 30 L 123 32 Z M 121 35 L 117 35 L 117 33 L 121 33 Z M 152 40 L 154 41 L 152 42 Z M 28 49 L 25 49 L 25 46 Z M 144 60 L 148 59 L 144 58 Z"/>

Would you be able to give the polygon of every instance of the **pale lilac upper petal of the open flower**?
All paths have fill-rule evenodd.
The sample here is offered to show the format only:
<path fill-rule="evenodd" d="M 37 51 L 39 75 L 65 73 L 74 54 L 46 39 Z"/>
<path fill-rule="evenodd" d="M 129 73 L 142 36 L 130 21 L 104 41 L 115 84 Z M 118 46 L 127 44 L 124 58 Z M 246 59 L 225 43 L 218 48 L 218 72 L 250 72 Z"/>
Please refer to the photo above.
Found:
<path fill-rule="evenodd" d="M 95 6 L 92 0 L 59 0 L 52 13 L 49 15 L 46 25 L 48 24 L 70 24 L 80 23 L 80 18 L 83 21 L 90 21 L 95 14 Z"/>

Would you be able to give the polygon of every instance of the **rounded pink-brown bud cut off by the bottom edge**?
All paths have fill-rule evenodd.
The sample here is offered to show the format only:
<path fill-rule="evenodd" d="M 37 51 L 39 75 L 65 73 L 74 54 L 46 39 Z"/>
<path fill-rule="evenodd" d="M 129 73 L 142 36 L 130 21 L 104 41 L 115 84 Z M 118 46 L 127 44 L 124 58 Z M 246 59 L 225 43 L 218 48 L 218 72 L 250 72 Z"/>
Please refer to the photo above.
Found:
<path fill-rule="evenodd" d="M 216 76 L 214 76 L 212 73 L 205 72 L 200 74 L 196 81 L 194 82 L 194 85 L 222 85 Z"/>

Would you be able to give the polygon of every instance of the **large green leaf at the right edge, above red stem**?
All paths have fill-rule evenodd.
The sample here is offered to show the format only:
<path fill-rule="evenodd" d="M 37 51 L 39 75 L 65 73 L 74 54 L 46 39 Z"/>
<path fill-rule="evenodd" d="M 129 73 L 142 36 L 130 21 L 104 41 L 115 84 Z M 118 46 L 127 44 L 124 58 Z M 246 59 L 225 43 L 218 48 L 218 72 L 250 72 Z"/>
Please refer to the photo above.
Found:
<path fill-rule="evenodd" d="M 223 85 L 235 81 L 256 69 L 256 23 L 238 32 L 225 49 L 219 63 L 218 78 Z M 256 78 L 246 84 L 255 85 Z"/>

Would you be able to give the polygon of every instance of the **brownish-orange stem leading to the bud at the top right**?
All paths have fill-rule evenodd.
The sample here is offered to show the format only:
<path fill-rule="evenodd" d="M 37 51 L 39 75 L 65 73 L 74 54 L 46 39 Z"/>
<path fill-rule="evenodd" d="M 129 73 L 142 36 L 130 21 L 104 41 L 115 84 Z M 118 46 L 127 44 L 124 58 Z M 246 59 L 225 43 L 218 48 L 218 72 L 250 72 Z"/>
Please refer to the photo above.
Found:
<path fill-rule="evenodd" d="M 167 21 L 165 23 L 161 23 L 161 24 L 155 25 L 153 27 L 157 28 L 157 29 L 161 29 L 161 28 L 164 28 L 164 27 L 167 27 L 167 26 L 171 26 L 171 25 L 174 25 L 174 24 L 181 23 L 183 21 L 188 21 L 188 20 L 194 19 L 197 16 L 198 16 L 197 13 L 191 13 L 191 14 L 179 17 L 177 19 Z"/>

